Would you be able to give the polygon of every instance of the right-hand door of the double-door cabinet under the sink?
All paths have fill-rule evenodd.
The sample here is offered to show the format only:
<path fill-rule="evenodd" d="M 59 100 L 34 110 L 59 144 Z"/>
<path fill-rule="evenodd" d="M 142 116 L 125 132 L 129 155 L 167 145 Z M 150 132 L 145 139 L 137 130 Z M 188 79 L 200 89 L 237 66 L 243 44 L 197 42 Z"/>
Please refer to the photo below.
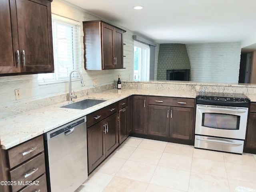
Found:
<path fill-rule="evenodd" d="M 112 114 L 105 119 L 106 134 L 105 136 L 105 148 L 106 156 L 108 156 L 118 146 L 118 114 Z"/>

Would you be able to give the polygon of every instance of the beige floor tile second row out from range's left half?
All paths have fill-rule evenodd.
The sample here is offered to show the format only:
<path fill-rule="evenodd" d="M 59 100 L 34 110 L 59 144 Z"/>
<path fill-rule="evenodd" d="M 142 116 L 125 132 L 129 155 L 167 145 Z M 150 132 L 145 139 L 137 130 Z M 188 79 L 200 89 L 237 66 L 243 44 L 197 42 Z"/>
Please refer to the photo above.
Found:
<path fill-rule="evenodd" d="M 208 159 L 192 159 L 191 172 L 227 178 L 225 163 Z"/>

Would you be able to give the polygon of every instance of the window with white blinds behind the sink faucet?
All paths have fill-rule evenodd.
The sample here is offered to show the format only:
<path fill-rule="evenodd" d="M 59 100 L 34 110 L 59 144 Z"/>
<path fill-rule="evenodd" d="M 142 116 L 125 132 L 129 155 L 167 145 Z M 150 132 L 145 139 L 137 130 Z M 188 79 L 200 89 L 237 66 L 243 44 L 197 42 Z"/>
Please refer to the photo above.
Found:
<path fill-rule="evenodd" d="M 52 15 L 54 73 L 38 74 L 39 84 L 67 82 L 70 71 L 81 70 L 80 23 Z M 72 74 L 78 78 L 77 73 Z"/>

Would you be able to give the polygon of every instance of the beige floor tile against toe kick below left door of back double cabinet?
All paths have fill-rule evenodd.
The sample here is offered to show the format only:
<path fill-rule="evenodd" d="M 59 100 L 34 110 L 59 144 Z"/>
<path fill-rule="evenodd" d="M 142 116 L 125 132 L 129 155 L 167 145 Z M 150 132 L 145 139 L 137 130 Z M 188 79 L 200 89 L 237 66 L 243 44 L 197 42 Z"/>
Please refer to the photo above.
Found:
<path fill-rule="evenodd" d="M 166 144 L 167 144 L 167 142 L 164 142 L 164 141 L 156 141 L 156 140 L 144 139 L 140 143 L 138 148 L 163 152 L 165 147 L 166 147 Z"/>

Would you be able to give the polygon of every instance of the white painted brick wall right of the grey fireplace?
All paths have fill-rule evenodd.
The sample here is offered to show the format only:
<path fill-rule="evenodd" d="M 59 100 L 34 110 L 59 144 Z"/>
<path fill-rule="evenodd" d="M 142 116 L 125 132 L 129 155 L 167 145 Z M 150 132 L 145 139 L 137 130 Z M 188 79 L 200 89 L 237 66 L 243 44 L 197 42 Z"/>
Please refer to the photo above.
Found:
<path fill-rule="evenodd" d="M 240 42 L 187 44 L 186 48 L 192 81 L 238 83 Z"/>

